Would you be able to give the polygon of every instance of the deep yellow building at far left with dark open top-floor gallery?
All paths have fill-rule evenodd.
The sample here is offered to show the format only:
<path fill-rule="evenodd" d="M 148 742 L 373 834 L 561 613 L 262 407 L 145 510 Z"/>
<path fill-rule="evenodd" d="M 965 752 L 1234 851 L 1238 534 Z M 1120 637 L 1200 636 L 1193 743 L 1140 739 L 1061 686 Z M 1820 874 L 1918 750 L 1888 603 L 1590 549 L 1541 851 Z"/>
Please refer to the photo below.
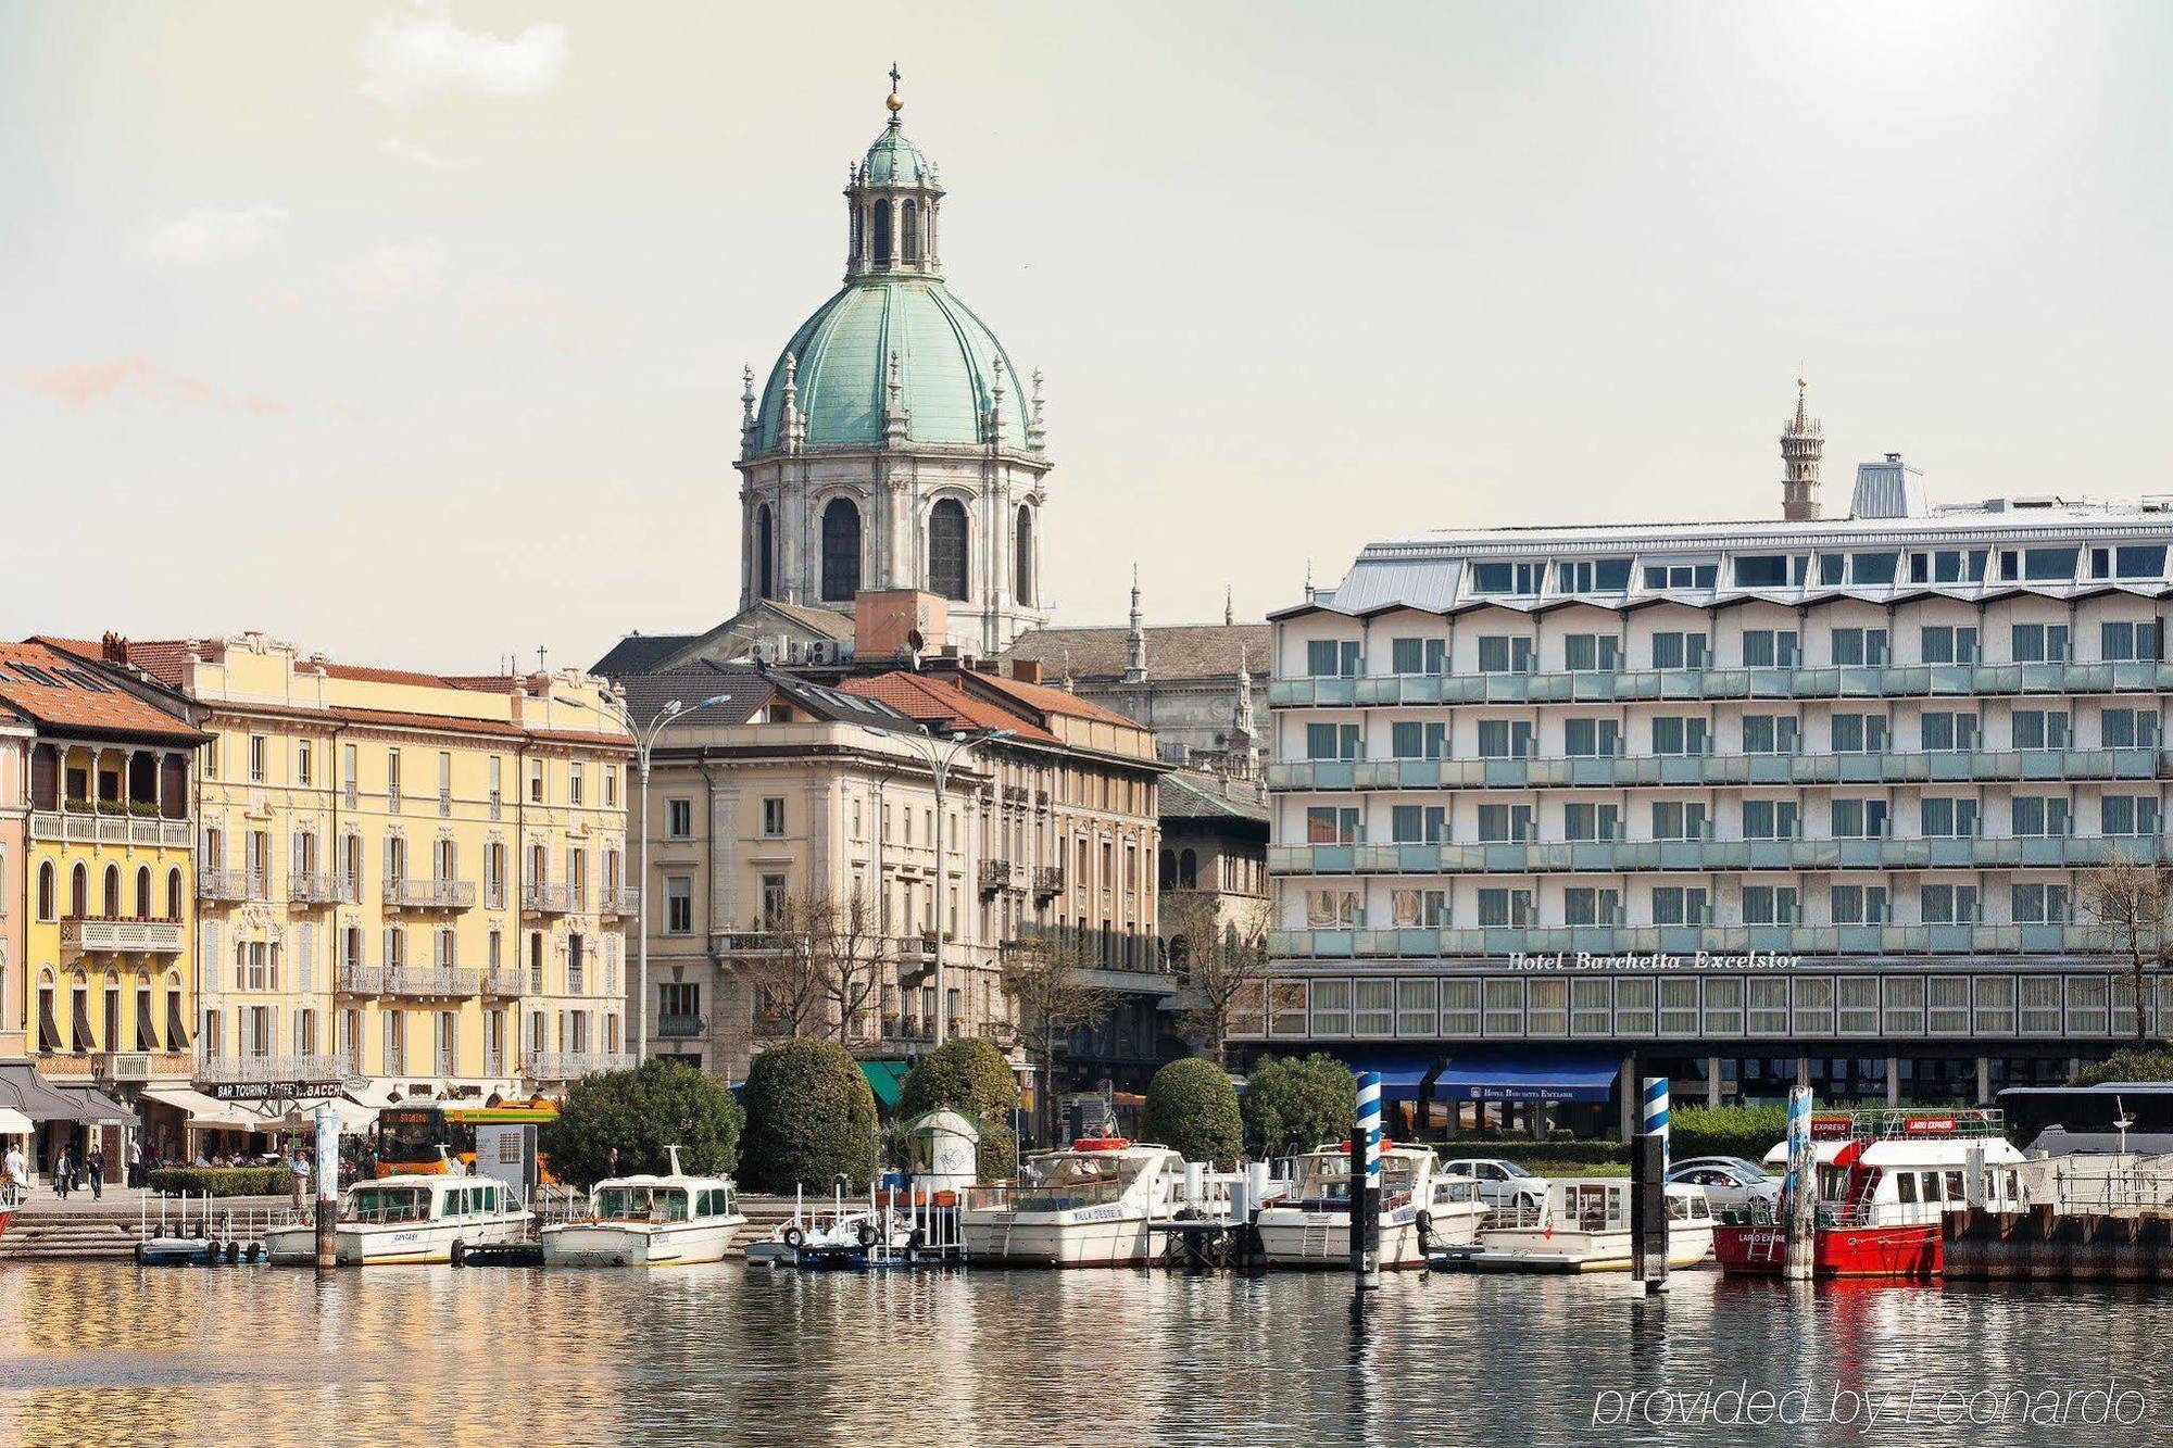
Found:
<path fill-rule="evenodd" d="M 133 694 L 43 641 L 0 644 L 0 717 L 30 731 L 17 739 L 26 781 L 9 789 L 26 783 L 20 867 L 0 841 L 0 913 L 22 911 L 20 963 L 0 950 L 0 1050 L 63 1087 L 22 1096 L 39 1170 L 63 1141 L 96 1141 L 117 1176 L 141 1091 L 191 1072 L 191 759 L 204 735 L 178 700 Z"/>

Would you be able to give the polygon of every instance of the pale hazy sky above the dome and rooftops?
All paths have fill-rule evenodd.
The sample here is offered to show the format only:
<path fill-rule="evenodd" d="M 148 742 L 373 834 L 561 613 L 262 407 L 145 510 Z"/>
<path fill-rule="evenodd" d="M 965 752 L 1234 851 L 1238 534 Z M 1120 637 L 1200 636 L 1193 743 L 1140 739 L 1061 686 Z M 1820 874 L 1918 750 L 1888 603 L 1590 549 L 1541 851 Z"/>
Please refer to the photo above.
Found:
<path fill-rule="evenodd" d="M 2173 491 L 2173 7 L 0 0 L 0 628 L 589 663 L 739 598 L 884 122 L 1056 622 L 1441 526 Z"/>

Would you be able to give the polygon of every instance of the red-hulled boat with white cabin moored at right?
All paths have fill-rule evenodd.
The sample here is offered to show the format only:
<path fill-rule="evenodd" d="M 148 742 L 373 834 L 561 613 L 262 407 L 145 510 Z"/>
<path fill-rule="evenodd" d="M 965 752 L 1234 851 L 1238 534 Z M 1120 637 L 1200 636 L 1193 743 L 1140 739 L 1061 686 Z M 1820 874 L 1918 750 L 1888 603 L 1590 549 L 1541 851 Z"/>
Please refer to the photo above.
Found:
<path fill-rule="evenodd" d="M 1936 1278 L 1949 1211 L 2025 1207 L 2023 1154 L 1999 1111 L 1832 1111 L 1810 1118 L 1810 1137 L 1819 1163 L 1812 1276 Z M 1786 1165 L 1788 1144 L 1764 1159 Z M 1984 1176 L 1971 1189 L 1980 1161 Z M 1788 1257 L 1784 1226 L 1762 1211 L 1734 1218 L 1714 1231 L 1721 1270 L 1778 1276 Z"/>

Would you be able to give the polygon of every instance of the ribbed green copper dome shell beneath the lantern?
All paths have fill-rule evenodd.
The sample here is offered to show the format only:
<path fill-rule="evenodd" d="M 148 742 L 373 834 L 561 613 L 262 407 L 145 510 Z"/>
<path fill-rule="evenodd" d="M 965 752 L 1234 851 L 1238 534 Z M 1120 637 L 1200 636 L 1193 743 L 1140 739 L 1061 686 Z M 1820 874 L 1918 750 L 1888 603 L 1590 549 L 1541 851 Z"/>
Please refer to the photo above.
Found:
<path fill-rule="evenodd" d="M 908 441 L 989 441 L 982 417 L 993 400 L 995 361 L 1002 359 L 1002 446 L 1023 450 L 1019 370 L 995 333 L 950 287 L 928 276 L 854 278 L 802 322 L 763 385 L 754 450 L 771 452 L 782 444 L 787 357 L 800 361 L 795 380 L 806 446 L 880 444 L 891 352 L 897 352 Z"/>

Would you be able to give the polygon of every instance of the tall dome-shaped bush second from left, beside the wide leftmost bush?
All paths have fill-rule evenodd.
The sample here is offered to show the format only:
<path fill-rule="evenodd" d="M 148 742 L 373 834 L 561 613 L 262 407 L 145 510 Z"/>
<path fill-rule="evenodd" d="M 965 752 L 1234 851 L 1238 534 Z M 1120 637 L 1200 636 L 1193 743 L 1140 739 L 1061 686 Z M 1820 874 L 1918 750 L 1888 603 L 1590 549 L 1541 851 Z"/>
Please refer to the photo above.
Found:
<path fill-rule="evenodd" d="M 837 1041 L 780 1041 L 745 1085 L 745 1183 L 754 1191 L 865 1187 L 876 1165 L 876 1094 Z"/>

